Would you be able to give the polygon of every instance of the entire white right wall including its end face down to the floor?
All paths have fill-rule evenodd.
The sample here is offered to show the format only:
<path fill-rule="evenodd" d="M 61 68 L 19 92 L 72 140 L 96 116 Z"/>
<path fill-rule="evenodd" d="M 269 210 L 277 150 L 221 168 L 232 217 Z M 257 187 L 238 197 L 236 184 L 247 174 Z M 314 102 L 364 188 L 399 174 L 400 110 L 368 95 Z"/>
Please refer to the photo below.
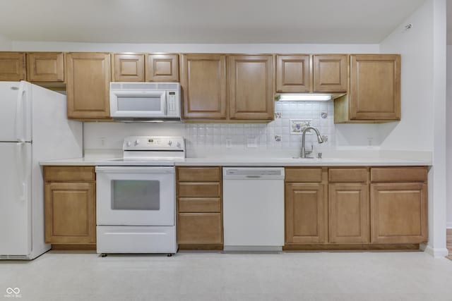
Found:
<path fill-rule="evenodd" d="M 412 24 L 410 30 L 405 25 Z M 381 42 L 402 54 L 402 121 L 383 125 L 381 149 L 433 151 L 427 252 L 446 249 L 446 0 L 427 0 Z M 384 133 L 387 131 L 388 133 Z"/>

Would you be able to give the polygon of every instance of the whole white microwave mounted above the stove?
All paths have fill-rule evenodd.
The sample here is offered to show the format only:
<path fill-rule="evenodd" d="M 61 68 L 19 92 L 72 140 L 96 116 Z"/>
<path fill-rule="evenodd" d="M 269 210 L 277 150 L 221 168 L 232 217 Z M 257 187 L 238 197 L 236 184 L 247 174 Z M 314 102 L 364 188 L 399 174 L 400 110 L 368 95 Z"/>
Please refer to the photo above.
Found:
<path fill-rule="evenodd" d="M 119 121 L 180 121 L 179 82 L 110 82 L 110 116 Z"/>

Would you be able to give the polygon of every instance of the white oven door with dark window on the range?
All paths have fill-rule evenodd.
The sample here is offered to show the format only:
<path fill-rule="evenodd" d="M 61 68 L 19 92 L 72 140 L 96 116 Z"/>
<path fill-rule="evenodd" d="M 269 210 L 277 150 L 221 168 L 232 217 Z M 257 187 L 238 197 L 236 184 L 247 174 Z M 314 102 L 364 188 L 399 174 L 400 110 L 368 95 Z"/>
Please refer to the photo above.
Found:
<path fill-rule="evenodd" d="M 174 166 L 97 166 L 97 225 L 174 226 Z"/>

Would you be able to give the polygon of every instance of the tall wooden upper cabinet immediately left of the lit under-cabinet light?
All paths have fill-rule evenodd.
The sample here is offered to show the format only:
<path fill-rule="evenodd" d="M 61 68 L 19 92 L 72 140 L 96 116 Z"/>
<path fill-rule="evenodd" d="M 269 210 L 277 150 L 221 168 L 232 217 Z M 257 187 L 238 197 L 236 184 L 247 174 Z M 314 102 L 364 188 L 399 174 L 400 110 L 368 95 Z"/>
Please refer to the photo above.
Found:
<path fill-rule="evenodd" d="M 230 119 L 272 120 L 273 55 L 231 55 L 228 60 Z"/>

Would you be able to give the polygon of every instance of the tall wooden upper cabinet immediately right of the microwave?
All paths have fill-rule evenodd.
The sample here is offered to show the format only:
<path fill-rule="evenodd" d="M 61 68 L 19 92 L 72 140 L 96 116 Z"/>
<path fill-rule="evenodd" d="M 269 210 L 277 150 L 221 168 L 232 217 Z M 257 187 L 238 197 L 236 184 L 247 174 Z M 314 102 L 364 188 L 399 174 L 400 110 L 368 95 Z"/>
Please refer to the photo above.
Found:
<path fill-rule="evenodd" d="M 184 119 L 225 119 L 226 56 L 182 54 L 180 65 Z"/>

